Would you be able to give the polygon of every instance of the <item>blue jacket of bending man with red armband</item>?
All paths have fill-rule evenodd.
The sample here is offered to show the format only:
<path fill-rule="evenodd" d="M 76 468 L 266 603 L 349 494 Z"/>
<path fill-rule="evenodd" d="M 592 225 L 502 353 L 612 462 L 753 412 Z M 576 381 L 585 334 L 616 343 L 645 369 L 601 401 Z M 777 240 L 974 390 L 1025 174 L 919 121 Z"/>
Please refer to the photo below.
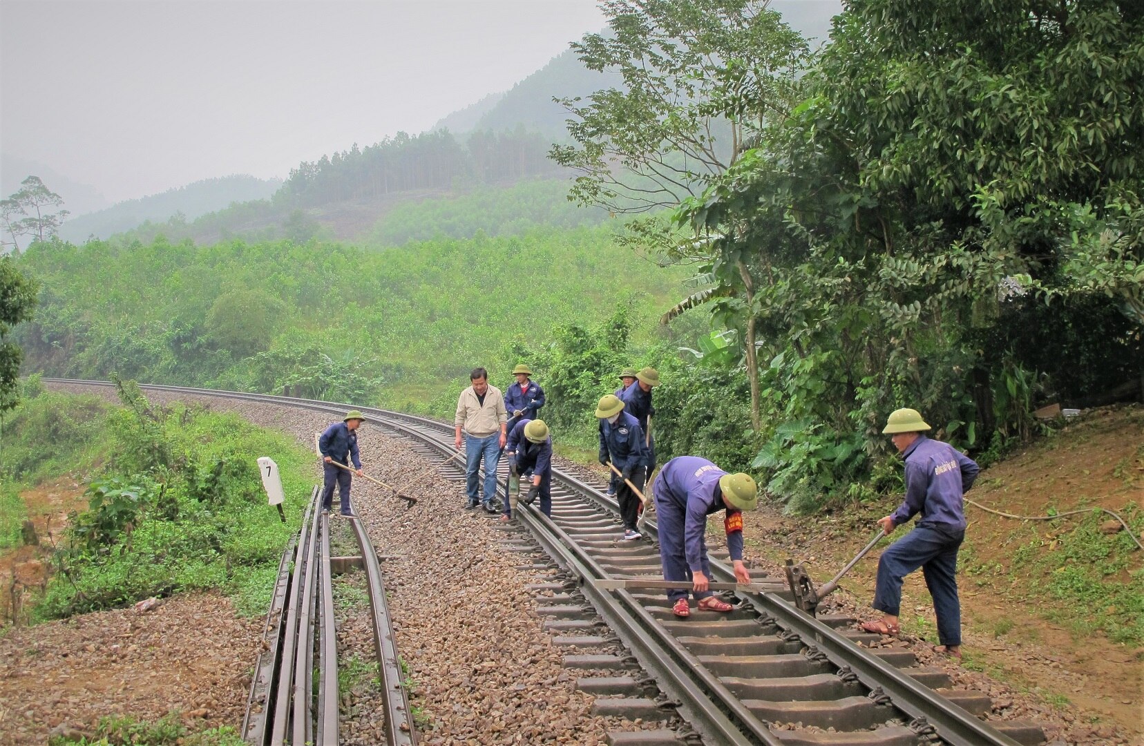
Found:
<path fill-rule="evenodd" d="M 688 566 L 702 570 L 704 532 L 707 516 L 726 510 L 723 527 L 726 530 L 726 548 L 731 560 L 742 560 L 742 511 L 728 508 L 718 481 L 726 471 L 707 459 L 697 455 L 681 455 L 664 465 L 656 477 L 652 493 L 659 513 L 660 543 L 678 546 L 682 540 Z M 683 514 L 683 525 L 668 514 Z M 665 523 L 668 530 L 665 531 Z"/>

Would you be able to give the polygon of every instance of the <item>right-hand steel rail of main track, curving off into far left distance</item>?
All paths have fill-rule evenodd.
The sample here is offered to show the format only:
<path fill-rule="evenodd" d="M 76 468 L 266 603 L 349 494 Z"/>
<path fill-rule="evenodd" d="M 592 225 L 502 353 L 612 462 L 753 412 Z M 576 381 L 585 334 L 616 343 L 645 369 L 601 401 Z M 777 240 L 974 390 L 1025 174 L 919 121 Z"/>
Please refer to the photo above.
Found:
<path fill-rule="evenodd" d="M 43 380 L 57 381 L 61 383 L 93 383 L 110 386 L 110 383 L 103 381 L 74 381 L 66 379 Z M 342 403 L 319 402 L 316 399 L 295 399 L 275 395 L 217 391 L 213 389 L 197 389 L 188 387 L 142 384 L 141 388 L 185 391 L 202 396 L 224 396 L 268 403 L 276 402 L 288 406 L 303 406 L 305 408 L 321 411 L 336 411 L 339 408 L 350 406 Z M 399 431 L 406 432 L 418 439 L 437 444 L 444 452 L 452 451 L 444 439 L 422 432 L 416 427 L 400 424 L 395 422 L 395 420 L 415 422 L 420 427 L 435 429 L 438 432 L 442 432 L 443 436 L 452 430 L 446 423 L 430 420 L 428 418 L 374 407 L 360 407 L 360 410 L 363 413 L 372 415 L 389 427 L 396 428 Z M 386 420 L 388 420 L 388 422 L 386 422 Z M 588 498 L 610 511 L 618 511 L 618 505 L 615 501 L 609 500 L 594 487 L 587 485 L 574 476 L 559 471 L 558 469 L 553 469 L 553 473 L 555 477 L 571 486 L 573 491 L 579 493 L 581 497 Z M 657 526 L 652 522 L 649 522 L 648 530 L 650 533 L 656 533 L 658 535 Z M 712 560 L 710 565 L 713 574 L 717 576 L 720 579 L 733 579 L 733 572 L 725 563 Z M 804 612 L 796 610 L 781 597 L 774 594 L 741 595 L 749 598 L 755 604 L 756 609 L 760 609 L 764 616 L 769 617 L 778 626 L 795 632 L 808 644 L 813 641 L 816 646 L 818 646 L 818 649 L 827 656 L 832 664 L 836 666 L 849 666 L 850 669 L 858 675 L 859 681 L 864 685 L 871 689 L 881 687 L 882 691 L 884 691 L 890 698 L 893 707 L 914 719 L 924 719 L 924 721 L 936 729 L 937 735 L 944 741 L 954 746 L 1017 746 L 1018 743 L 1016 740 L 1009 738 L 1004 733 L 1001 733 L 985 721 L 974 717 L 968 712 L 956 705 L 953 705 L 940 695 L 934 692 L 924 684 L 914 681 L 906 674 L 903 674 L 897 668 L 882 662 L 875 656 L 861 650 L 827 625 L 813 619 Z"/>

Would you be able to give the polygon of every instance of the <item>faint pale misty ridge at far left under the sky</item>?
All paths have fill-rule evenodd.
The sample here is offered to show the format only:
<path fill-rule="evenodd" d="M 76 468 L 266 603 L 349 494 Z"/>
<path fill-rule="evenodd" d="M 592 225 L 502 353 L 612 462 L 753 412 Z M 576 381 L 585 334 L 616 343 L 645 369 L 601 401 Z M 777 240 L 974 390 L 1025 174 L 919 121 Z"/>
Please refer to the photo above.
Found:
<path fill-rule="evenodd" d="M 162 222 L 182 214 L 186 220 L 222 209 L 235 203 L 265 199 L 281 186 L 279 178 L 256 178 L 236 174 L 169 189 L 160 195 L 118 203 L 105 209 L 65 222 L 59 237 L 80 243 L 89 236 L 108 238 L 146 221 Z"/>

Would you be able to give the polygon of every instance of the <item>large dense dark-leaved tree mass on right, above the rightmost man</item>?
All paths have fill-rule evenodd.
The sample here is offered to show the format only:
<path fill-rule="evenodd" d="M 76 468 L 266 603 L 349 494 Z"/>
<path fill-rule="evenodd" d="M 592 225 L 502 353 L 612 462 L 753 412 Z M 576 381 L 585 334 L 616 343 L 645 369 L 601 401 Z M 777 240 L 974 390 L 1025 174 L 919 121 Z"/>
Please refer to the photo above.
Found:
<path fill-rule="evenodd" d="M 1035 376 L 984 340 L 1039 299 L 1139 318 L 1142 76 L 1127 3 L 848 5 L 805 101 L 681 211 L 716 261 L 752 247 L 772 490 L 837 493 L 895 406 L 1022 431 Z"/>

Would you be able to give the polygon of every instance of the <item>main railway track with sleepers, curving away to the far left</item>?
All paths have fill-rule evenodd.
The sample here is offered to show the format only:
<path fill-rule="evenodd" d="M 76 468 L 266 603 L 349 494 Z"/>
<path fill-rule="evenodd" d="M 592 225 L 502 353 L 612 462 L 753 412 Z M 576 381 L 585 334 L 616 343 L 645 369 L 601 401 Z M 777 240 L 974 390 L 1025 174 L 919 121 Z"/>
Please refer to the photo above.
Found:
<path fill-rule="evenodd" d="M 59 382 L 108 386 L 100 381 Z M 349 407 L 210 389 L 143 388 L 323 412 L 340 413 Z M 422 455 L 445 460 L 455 453 L 453 429 L 448 424 L 386 410 L 360 408 L 383 430 L 407 438 Z M 545 624 L 554 632 L 596 632 L 562 635 L 554 641 L 577 653 L 594 648 L 619 648 L 620 654 L 572 654 L 565 659 L 569 666 L 612 669 L 618 674 L 579 680 L 582 688 L 597 696 L 597 712 L 677 725 L 674 730 L 610 733 L 610 743 L 1011 746 L 1043 741 L 1043 733 L 1035 724 L 983 720 L 980 715 L 991 707 L 985 695 L 952 689 L 946 674 L 916 666 L 909 651 L 866 646 L 880 638 L 852 630 L 852 618 L 815 618 L 797 610 L 788 602 L 785 582 L 764 578 L 764 590 L 736 594 L 737 608 L 731 613 L 693 611 L 686 620 L 672 616 L 661 594 L 601 589 L 598 580 L 661 578 L 654 522 L 648 522 L 643 540 L 618 541 L 614 500 L 572 475 L 554 469 L 553 476 L 553 518 L 532 506 L 517 510 L 516 524 L 527 532 L 526 538 L 517 539 L 518 548 L 539 547 L 564 572 L 562 584 L 537 586 L 541 594 L 539 603 L 548 604 L 538 612 L 549 618 Z M 312 508 L 309 513 L 313 513 Z M 293 548 L 295 557 L 302 557 L 303 547 L 315 547 L 305 554 L 307 564 L 317 551 L 318 539 L 312 533 L 312 529 L 308 533 L 303 526 Z M 372 550 L 363 547 L 362 556 L 373 556 Z M 733 572 L 723 557 L 725 553 L 722 556 L 713 553 L 713 579 L 733 582 Z M 281 585 L 281 574 L 279 580 Z M 276 592 L 276 604 L 279 596 Z M 296 595 L 287 593 L 286 597 Z M 272 608 L 271 617 L 276 608 L 281 609 Z M 299 609 L 296 616 L 301 617 L 301 612 Z M 291 628 L 289 613 L 286 617 Z M 602 627 L 611 634 L 599 634 Z M 280 646 L 292 644 L 284 635 Z M 299 649 L 307 644 L 312 642 L 301 643 Z M 628 651 L 630 656 L 625 654 Z M 285 652 L 279 652 L 279 657 L 285 658 Z M 646 675 L 637 677 L 631 668 L 642 668 Z M 304 672 L 295 674 L 295 680 L 304 675 Z M 295 691 L 296 687 L 295 681 Z M 392 691 L 390 687 L 386 689 Z M 402 691 L 400 687 L 397 690 Z M 279 708 L 280 698 L 279 693 L 275 703 Z M 336 717 L 333 720 L 336 729 Z M 297 736 L 295 730 L 292 743 L 305 743 Z M 391 745 L 399 743 L 408 741 L 390 740 Z"/>

